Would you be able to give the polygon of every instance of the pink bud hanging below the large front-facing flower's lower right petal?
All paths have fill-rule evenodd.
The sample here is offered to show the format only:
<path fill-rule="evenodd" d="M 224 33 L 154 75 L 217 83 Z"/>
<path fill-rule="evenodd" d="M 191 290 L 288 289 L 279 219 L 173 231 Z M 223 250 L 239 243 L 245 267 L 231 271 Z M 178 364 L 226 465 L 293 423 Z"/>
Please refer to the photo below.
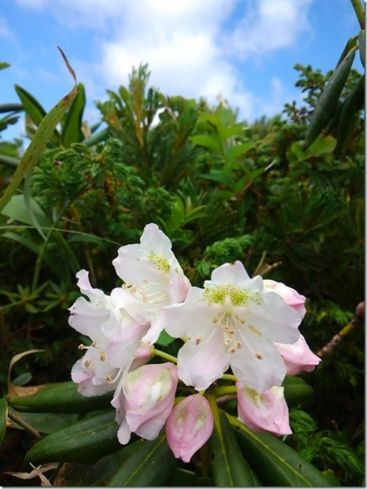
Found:
<path fill-rule="evenodd" d="M 254 389 L 236 382 L 238 392 L 238 419 L 251 431 L 270 431 L 282 436 L 292 434 L 289 412 L 283 387 L 258 394 Z"/>

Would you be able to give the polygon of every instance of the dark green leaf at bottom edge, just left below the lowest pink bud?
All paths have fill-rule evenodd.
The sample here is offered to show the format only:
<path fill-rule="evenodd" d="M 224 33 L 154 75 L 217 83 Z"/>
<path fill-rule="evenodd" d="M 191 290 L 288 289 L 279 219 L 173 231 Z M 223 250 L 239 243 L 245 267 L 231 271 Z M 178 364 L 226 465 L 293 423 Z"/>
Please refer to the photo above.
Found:
<path fill-rule="evenodd" d="M 137 450 L 122 463 L 107 486 L 150 487 L 168 483 L 177 461 L 167 444 L 166 435 L 139 443 Z"/>

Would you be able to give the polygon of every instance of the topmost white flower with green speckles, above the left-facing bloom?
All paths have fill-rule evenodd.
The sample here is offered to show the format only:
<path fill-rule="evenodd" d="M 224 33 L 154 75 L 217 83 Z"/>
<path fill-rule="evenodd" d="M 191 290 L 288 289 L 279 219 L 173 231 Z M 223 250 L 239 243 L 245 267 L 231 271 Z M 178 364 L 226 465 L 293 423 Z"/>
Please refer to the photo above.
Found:
<path fill-rule="evenodd" d="M 169 237 L 156 224 L 148 224 L 140 244 L 120 247 L 112 262 L 124 281 L 123 288 L 112 291 L 112 296 L 124 303 L 137 321 L 151 322 L 144 338 L 151 343 L 161 333 L 157 319 L 162 306 L 184 301 L 191 287 L 171 247 Z"/>

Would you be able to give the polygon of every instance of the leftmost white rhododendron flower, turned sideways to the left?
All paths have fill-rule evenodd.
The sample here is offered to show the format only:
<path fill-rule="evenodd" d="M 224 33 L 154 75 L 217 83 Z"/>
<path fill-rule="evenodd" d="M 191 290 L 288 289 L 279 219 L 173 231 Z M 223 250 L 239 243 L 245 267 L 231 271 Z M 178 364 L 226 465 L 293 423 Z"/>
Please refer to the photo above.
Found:
<path fill-rule="evenodd" d="M 77 278 L 80 291 L 89 301 L 78 297 L 69 309 L 69 324 L 89 336 L 92 344 L 80 345 L 87 351 L 73 366 L 71 377 L 81 394 L 94 396 L 116 388 L 122 372 L 129 370 L 149 323 L 137 323 L 110 296 L 93 289 L 87 271 L 80 270 Z"/>

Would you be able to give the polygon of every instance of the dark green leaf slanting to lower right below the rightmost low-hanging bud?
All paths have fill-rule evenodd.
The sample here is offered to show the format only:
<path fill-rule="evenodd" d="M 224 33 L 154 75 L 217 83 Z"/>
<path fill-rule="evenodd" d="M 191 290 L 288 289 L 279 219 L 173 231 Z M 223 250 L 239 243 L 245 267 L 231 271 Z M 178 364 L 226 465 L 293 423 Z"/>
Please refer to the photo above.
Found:
<path fill-rule="evenodd" d="M 261 480 L 271 486 L 330 486 L 331 481 L 284 441 L 270 433 L 252 433 L 226 414 L 235 429 L 241 450 Z"/>

